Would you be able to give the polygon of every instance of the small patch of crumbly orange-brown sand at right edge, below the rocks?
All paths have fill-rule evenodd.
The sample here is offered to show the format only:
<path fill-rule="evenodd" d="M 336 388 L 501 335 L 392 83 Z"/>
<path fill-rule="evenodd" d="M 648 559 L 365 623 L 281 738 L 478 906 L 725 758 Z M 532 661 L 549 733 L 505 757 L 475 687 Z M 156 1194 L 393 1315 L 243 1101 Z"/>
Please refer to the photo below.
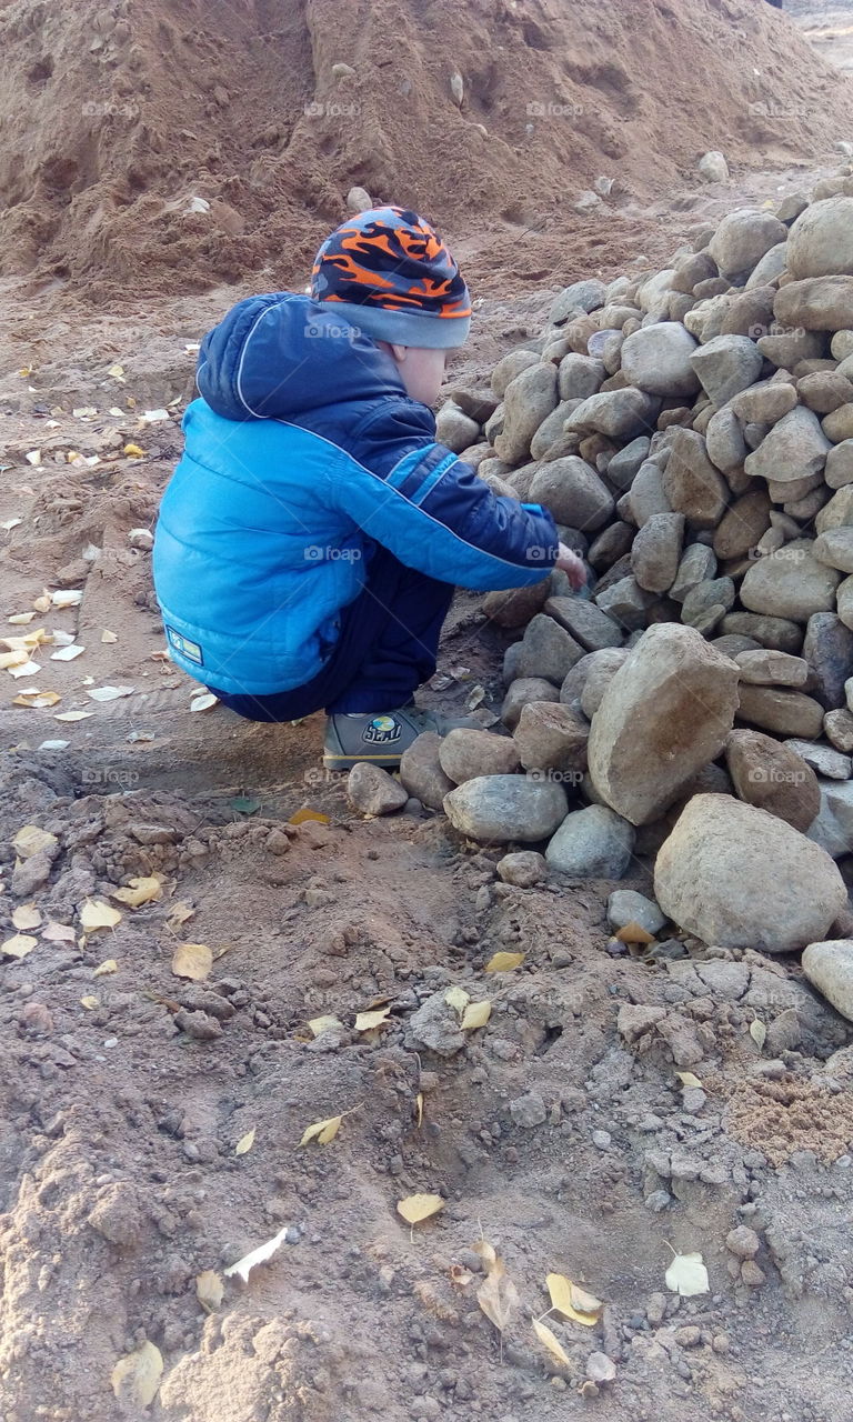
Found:
<path fill-rule="evenodd" d="M 853 1091 L 830 1091 L 820 1081 L 744 1079 L 729 1099 L 725 1129 L 761 1150 L 771 1165 L 785 1165 L 798 1150 L 830 1163 L 853 1140 Z"/>

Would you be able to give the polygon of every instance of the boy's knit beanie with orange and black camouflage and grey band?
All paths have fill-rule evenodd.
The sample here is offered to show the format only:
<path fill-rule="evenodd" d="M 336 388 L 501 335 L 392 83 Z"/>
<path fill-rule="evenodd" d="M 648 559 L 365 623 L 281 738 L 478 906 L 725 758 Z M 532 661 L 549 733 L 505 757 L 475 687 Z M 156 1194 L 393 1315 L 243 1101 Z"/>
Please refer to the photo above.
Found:
<path fill-rule="evenodd" d="M 429 223 L 408 208 L 360 212 L 314 257 L 311 296 L 351 326 L 397 346 L 463 346 L 471 297 Z"/>

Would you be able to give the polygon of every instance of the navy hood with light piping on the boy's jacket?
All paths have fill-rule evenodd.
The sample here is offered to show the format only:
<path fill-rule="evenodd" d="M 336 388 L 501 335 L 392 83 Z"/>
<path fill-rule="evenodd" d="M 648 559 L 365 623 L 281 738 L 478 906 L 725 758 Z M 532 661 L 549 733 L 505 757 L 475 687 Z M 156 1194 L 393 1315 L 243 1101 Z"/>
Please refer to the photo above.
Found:
<path fill-rule="evenodd" d="M 387 351 L 324 301 L 294 292 L 237 301 L 202 340 L 196 384 L 226 419 L 287 419 L 407 395 Z"/>

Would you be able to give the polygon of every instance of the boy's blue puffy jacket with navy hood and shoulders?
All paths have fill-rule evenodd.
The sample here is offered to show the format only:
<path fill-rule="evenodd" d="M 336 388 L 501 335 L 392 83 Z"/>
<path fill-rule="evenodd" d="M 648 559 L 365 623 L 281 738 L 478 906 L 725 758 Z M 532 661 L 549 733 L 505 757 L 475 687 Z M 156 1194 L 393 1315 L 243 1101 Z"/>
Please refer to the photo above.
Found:
<path fill-rule="evenodd" d="M 381 543 L 461 587 L 540 582 L 557 532 L 444 445 L 392 358 L 291 292 L 239 301 L 200 346 L 154 579 L 172 658 L 223 691 L 304 685 Z"/>

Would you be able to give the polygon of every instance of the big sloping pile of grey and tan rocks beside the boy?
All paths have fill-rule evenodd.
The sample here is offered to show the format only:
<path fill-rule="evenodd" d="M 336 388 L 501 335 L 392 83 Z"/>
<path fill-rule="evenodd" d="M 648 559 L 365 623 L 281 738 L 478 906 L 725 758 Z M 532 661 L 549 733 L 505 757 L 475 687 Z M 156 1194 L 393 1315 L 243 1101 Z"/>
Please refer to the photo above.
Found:
<path fill-rule="evenodd" d="M 729 213 L 662 272 L 567 287 L 438 417 L 496 492 L 552 510 L 590 597 L 553 572 L 485 599 L 520 634 L 510 737 L 421 737 L 405 791 L 471 838 L 546 840 L 566 875 L 657 855 L 662 910 L 731 947 L 827 939 L 847 902 L 852 173 Z"/>

